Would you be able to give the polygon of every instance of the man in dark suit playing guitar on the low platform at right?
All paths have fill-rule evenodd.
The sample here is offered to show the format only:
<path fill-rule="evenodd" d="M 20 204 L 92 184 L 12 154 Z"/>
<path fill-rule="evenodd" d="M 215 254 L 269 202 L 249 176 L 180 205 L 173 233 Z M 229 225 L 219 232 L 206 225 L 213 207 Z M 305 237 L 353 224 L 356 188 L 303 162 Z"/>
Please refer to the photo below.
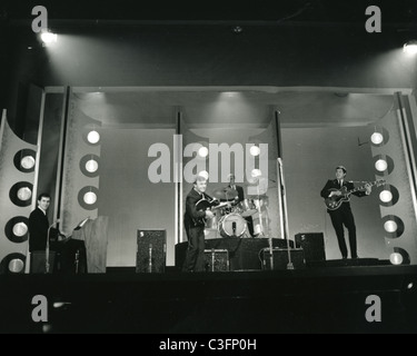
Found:
<path fill-rule="evenodd" d="M 321 190 L 321 197 L 327 199 L 332 196 L 341 196 L 342 192 L 339 190 L 342 187 L 346 187 L 347 190 L 351 190 L 355 188 L 354 184 L 350 181 L 346 181 L 346 174 L 347 170 L 344 166 L 336 167 L 336 179 L 329 179 Z M 366 185 L 366 191 L 356 191 L 353 192 L 357 197 L 368 196 L 371 192 L 371 186 Z M 334 189 L 334 190 L 331 190 Z M 349 245 L 350 245 L 350 256 L 351 258 L 358 258 L 357 254 L 357 241 L 356 241 L 356 225 L 354 215 L 351 214 L 350 204 L 349 201 L 341 202 L 340 207 L 336 210 L 327 210 L 331 218 L 331 224 L 335 228 L 337 240 L 339 243 L 339 249 L 341 253 L 342 259 L 347 259 L 348 250 L 345 241 L 345 227 L 348 229 L 349 233 Z"/>

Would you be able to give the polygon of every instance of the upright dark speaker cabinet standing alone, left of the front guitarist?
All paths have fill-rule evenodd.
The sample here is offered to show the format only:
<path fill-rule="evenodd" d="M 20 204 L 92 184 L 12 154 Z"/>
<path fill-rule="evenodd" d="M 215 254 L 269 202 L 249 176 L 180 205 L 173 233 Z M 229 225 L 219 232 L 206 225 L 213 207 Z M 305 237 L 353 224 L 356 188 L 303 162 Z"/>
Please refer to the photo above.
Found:
<path fill-rule="evenodd" d="M 165 273 L 167 256 L 167 231 L 158 229 L 138 230 L 136 273 Z"/>

